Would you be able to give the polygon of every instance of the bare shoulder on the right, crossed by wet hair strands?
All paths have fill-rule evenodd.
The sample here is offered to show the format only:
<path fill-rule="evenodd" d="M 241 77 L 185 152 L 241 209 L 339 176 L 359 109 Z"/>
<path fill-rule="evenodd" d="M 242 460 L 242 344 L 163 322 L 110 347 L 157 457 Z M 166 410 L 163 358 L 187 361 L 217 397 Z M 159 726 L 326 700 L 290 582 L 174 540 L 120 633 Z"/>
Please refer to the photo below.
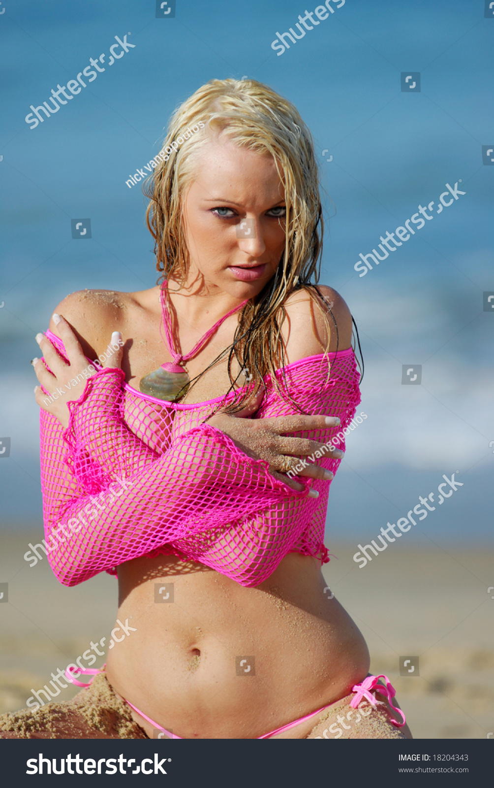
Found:
<path fill-rule="evenodd" d="M 324 303 L 312 288 L 315 298 L 307 290 L 300 289 L 290 293 L 284 304 L 287 325 L 283 326 L 282 333 L 290 362 L 323 353 L 327 342 L 325 313 L 330 325 L 330 351 L 345 350 L 352 344 L 352 314 L 345 299 L 326 284 L 318 284 L 317 288 Z"/>

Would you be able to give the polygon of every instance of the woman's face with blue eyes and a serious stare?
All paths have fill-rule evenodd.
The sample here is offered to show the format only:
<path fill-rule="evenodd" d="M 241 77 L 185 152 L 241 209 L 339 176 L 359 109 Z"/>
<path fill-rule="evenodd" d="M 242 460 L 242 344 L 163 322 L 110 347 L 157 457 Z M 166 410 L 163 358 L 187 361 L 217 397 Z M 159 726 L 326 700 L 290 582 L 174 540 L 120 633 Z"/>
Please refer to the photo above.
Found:
<path fill-rule="evenodd" d="M 204 277 L 238 299 L 253 298 L 285 250 L 285 190 L 271 154 L 211 141 L 197 154 L 183 219 L 189 282 Z"/>

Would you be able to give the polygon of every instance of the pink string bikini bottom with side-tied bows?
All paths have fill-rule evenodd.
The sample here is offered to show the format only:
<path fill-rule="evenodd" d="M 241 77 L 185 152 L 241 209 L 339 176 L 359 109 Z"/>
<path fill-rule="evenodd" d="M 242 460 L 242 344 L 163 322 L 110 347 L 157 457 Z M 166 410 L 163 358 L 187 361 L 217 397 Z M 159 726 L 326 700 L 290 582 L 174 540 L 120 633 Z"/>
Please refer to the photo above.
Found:
<path fill-rule="evenodd" d="M 90 683 L 93 681 L 92 678 L 86 684 L 84 684 L 83 682 L 78 682 L 76 678 L 73 677 L 72 671 L 73 668 L 71 668 L 71 671 L 65 671 L 65 675 L 68 678 L 68 681 L 72 682 L 73 684 L 76 684 L 76 686 L 79 687 L 90 686 Z M 79 670 L 79 671 L 76 669 L 75 672 L 78 675 L 79 673 L 83 673 L 84 675 L 93 675 L 93 676 L 97 675 L 98 673 L 101 673 L 101 671 L 98 671 L 92 667 L 87 667 L 84 670 Z M 378 684 L 379 678 L 384 678 L 385 686 L 382 684 Z M 389 705 L 391 706 L 391 708 L 393 708 L 393 711 L 398 712 L 403 717 L 402 723 L 399 723 L 397 719 L 392 719 L 391 722 L 393 723 L 393 725 L 396 725 L 396 727 L 398 728 L 403 727 L 406 722 L 404 713 L 401 711 L 400 708 L 396 708 L 396 706 L 393 705 L 393 697 L 395 697 L 396 695 L 396 690 L 394 689 L 392 683 L 389 681 L 389 678 L 385 675 L 379 675 L 379 676 L 368 675 L 367 678 L 363 679 L 363 682 L 360 682 L 359 684 L 354 684 L 354 686 L 352 686 L 352 692 L 356 693 L 356 695 L 354 698 L 352 698 L 352 701 L 350 701 L 350 705 L 352 706 L 352 708 L 357 708 L 359 703 L 361 703 L 364 698 L 367 701 L 369 701 L 369 703 L 374 708 L 377 708 L 375 704 L 375 698 L 371 695 L 371 689 L 375 689 L 378 693 L 384 695 L 388 699 Z M 138 709 L 137 706 L 132 704 L 131 701 L 127 701 L 125 698 L 123 698 L 123 700 L 127 703 L 128 706 L 133 708 L 134 711 L 138 713 L 138 715 L 142 716 L 142 719 L 146 719 L 146 722 L 148 722 L 157 730 L 161 730 L 168 738 L 182 738 L 182 736 L 177 736 L 176 734 L 171 733 L 171 730 L 167 730 L 161 725 L 158 725 L 158 723 L 156 723 L 153 719 L 151 719 L 146 714 L 144 714 L 144 712 L 141 712 L 141 710 Z M 330 705 L 332 704 L 326 704 L 326 706 L 323 706 L 322 708 L 318 708 L 315 712 L 311 712 L 310 714 L 306 714 L 304 717 L 300 717 L 299 719 L 293 720 L 293 723 L 282 725 L 282 727 L 275 728 L 275 730 L 270 730 L 268 734 L 264 734 L 263 736 L 257 736 L 256 738 L 271 738 L 276 734 L 281 734 L 285 730 L 289 730 L 290 728 L 293 728 L 296 725 L 300 725 L 300 723 L 304 723 L 306 719 L 311 719 L 311 717 L 315 717 L 316 714 L 320 714 L 321 712 L 324 711 L 324 709 L 329 708 Z M 157 738 L 160 738 L 160 736 L 158 736 Z"/>

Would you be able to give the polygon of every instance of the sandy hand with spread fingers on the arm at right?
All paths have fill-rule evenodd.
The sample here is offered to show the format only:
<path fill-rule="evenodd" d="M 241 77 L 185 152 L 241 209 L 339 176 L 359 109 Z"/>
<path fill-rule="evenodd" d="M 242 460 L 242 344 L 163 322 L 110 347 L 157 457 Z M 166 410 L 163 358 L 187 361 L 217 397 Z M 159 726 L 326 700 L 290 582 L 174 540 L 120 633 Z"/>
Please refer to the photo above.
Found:
<path fill-rule="evenodd" d="M 309 438 L 286 437 L 285 433 L 311 432 L 315 429 L 328 429 L 340 425 L 340 419 L 334 416 L 276 416 L 275 418 L 245 418 L 252 412 L 252 408 L 245 408 L 238 414 L 216 414 L 208 419 L 208 424 L 221 429 L 234 444 L 253 459 L 265 459 L 269 463 L 272 476 L 283 481 L 294 490 L 301 492 L 304 485 L 295 479 L 286 476 L 289 464 L 296 467 L 297 457 L 308 457 L 315 452 L 322 451 L 323 455 L 342 459 L 345 452 L 335 448 L 328 452 L 323 448 L 325 444 Z M 293 458 L 293 460 L 291 459 Z M 334 474 L 314 463 L 309 463 L 304 469 L 297 471 L 297 476 L 307 476 L 313 479 L 332 479 Z M 311 490 L 315 492 L 315 490 Z"/>

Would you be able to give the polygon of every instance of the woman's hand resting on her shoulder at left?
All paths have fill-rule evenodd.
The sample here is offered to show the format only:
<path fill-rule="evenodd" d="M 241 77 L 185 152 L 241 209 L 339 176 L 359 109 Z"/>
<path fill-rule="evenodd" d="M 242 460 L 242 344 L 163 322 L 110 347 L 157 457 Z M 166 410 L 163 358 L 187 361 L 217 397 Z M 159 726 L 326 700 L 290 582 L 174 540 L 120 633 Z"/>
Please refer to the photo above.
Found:
<path fill-rule="evenodd" d="M 67 427 L 70 416 L 68 401 L 79 400 L 84 391 L 85 381 L 101 370 L 101 367 L 120 369 L 123 342 L 120 332 L 114 331 L 105 352 L 105 359 L 100 366 L 99 362 L 90 363 L 87 361 L 76 335 L 64 318 L 53 314 L 53 322 L 65 345 L 68 363 L 61 358 L 61 355 L 44 334 L 36 335 L 36 342 L 39 344 L 46 365 L 50 367 L 51 372 L 46 369 L 46 365 L 41 359 L 32 360 L 36 377 L 41 384 L 41 386 L 35 386 L 35 398 L 43 411 L 51 413 L 63 426 Z"/>

